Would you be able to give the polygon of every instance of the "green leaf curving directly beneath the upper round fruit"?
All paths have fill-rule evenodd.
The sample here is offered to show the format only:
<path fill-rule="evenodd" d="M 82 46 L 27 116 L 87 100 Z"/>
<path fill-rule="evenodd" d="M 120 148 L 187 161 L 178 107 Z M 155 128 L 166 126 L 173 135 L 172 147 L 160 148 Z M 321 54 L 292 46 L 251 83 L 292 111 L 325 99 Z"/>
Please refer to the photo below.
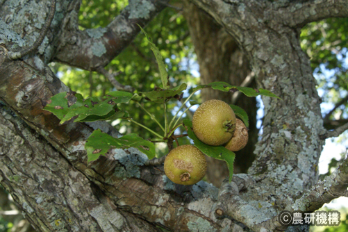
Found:
<path fill-rule="evenodd" d="M 229 181 L 232 181 L 233 176 L 233 163 L 235 154 L 233 151 L 226 149 L 224 146 L 209 146 L 204 142 L 201 142 L 196 135 L 194 135 L 192 131 L 192 122 L 189 119 L 184 119 L 183 124 L 188 130 L 188 137 L 190 137 L 194 146 L 196 146 L 201 152 L 206 154 L 207 156 L 216 158 L 218 160 L 225 160 L 227 163 L 227 167 L 229 167 Z"/>

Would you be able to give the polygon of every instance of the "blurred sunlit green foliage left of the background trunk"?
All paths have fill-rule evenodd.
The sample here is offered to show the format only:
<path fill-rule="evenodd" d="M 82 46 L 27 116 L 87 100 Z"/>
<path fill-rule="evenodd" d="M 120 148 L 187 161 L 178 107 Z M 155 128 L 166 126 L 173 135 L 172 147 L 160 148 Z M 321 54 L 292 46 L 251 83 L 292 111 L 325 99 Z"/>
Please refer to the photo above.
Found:
<path fill-rule="evenodd" d="M 117 3 L 83 1 L 79 16 L 81 30 L 107 26 L 113 17 L 117 16 L 127 5 L 127 1 L 117 1 Z M 192 66 L 195 66 L 195 55 L 188 36 L 188 26 L 185 24 L 183 16 L 173 8 L 166 8 L 145 30 L 151 35 L 152 42 L 156 44 L 161 55 L 165 58 L 172 87 L 181 85 L 183 82 L 189 83 L 189 87 L 197 84 L 198 79 L 193 78 L 190 74 Z M 83 97 L 102 97 L 107 92 L 115 90 L 107 78 L 96 72 L 87 72 L 58 63 L 51 64 L 51 67 L 69 88 L 83 94 Z M 122 73 L 117 76 L 117 80 L 123 85 L 133 86 L 137 92 L 149 92 L 155 86 L 161 85 L 156 59 L 142 33 L 106 69 L 109 72 L 121 71 Z M 168 108 L 174 108 L 176 101 L 169 101 L 169 103 Z M 159 119 L 160 124 L 164 124 L 162 106 L 147 101 L 143 101 L 142 104 L 144 108 Z M 146 124 L 157 133 L 161 132 L 158 125 L 150 120 L 149 115 L 140 110 L 135 103 L 131 102 L 131 104 L 124 107 L 124 110 L 129 112 L 136 122 Z M 131 122 L 125 120 L 122 123 L 119 122 L 120 120 L 115 120 L 111 123 L 121 133 L 137 133 L 142 135 L 142 138 L 151 136 L 148 131 L 131 124 Z M 182 138 L 181 140 L 187 139 Z M 160 148 L 161 146 L 158 145 L 157 147 Z M 158 156 L 163 156 L 166 152 L 162 149 L 157 149 L 157 151 Z"/>

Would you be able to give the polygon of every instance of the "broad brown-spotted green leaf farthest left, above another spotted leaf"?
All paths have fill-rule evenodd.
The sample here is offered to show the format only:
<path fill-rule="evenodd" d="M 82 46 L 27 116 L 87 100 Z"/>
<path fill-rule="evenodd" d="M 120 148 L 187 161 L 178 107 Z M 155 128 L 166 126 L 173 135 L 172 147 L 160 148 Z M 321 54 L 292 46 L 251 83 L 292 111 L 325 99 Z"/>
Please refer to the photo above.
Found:
<path fill-rule="evenodd" d="M 124 117 L 126 113 L 117 108 L 117 103 L 125 103 L 133 97 L 130 92 L 109 92 L 103 99 L 90 97 L 83 99 L 81 94 L 61 92 L 51 97 L 44 110 L 48 110 L 60 119 L 60 124 L 67 122 L 93 122 L 97 120 Z M 68 99 L 74 100 L 69 103 Z M 71 104 L 71 106 L 68 106 Z"/>

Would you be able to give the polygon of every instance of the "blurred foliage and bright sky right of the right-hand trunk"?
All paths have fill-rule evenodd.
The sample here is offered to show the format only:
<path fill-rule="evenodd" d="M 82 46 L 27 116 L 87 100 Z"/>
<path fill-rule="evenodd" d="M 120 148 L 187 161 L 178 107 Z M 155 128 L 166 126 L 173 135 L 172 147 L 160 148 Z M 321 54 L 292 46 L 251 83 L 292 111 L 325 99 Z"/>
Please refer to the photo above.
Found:
<path fill-rule="evenodd" d="M 322 116 L 326 129 L 333 129 L 348 122 L 348 19 L 333 18 L 306 25 L 301 31 L 301 47 L 310 56 L 310 65 L 317 79 L 317 90 L 322 97 Z M 347 149 L 347 131 L 340 138 Z M 347 152 L 341 154 L 346 156 Z M 339 160 L 333 158 L 329 175 Z"/>

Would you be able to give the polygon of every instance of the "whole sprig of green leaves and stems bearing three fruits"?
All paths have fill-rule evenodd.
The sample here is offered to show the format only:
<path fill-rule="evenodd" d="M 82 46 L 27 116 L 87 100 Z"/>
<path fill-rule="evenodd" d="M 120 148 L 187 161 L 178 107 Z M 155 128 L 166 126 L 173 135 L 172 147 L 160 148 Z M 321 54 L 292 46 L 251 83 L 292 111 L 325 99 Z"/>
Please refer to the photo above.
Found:
<path fill-rule="evenodd" d="M 101 99 L 96 97 L 84 99 L 81 94 L 76 92 L 60 92 L 51 97 L 47 102 L 45 101 L 44 110 L 56 115 L 60 119 L 60 124 L 124 119 L 141 126 L 143 129 L 149 131 L 152 136 L 155 136 L 155 138 L 148 138 L 145 140 L 135 133 L 130 133 L 115 138 L 108 135 L 108 133 L 103 133 L 100 129 L 94 130 L 85 142 L 88 163 L 97 160 L 99 156 L 106 156 L 110 149 L 135 147 L 149 158 L 144 165 L 159 165 L 163 163 L 165 157 L 152 160 L 156 157 L 156 147 L 154 143 L 166 142 L 167 146 L 172 149 L 175 140 L 178 147 L 170 151 L 167 155 L 167 160 L 165 160 L 165 172 L 169 179 L 183 185 L 197 183 L 206 173 L 206 155 L 226 161 L 229 167 L 229 181 L 231 181 L 235 158 L 233 151 L 238 151 L 245 147 L 248 140 L 247 127 L 245 126 L 248 121 L 247 113 L 238 106 L 231 105 L 230 107 L 227 103 L 224 103 L 224 101 L 211 100 L 199 106 L 194 113 L 193 122 L 189 119 L 180 121 L 181 117 L 183 117 L 196 102 L 190 101 L 190 106 L 185 110 L 183 110 L 183 108 L 188 106 L 187 103 L 194 94 L 205 88 L 211 88 L 222 92 L 240 91 L 247 97 L 257 97 L 259 95 L 276 97 L 278 99 L 279 97 L 269 90 L 262 88 L 256 90 L 245 86 L 235 86 L 223 81 L 197 85 L 188 91 L 190 95 L 181 103 L 179 110 L 176 110 L 176 114 L 169 122 L 167 117 L 167 102 L 171 99 L 179 99 L 179 101 L 181 101 L 183 91 L 187 90 L 188 85 L 186 83 L 181 83 L 173 88 L 171 87 L 174 85 L 170 85 L 169 83 L 169 76 L 160 50 L 151 42 L 151 39 L 141 27 L 140 30 L 142 30 L 146 36 L 149 47 L 154 52 L 160 71 L 159 76 L 162 87 L 155 86 L 154 90 L 149 92 L 137 91 L 133 94 L 131 92 L 117 90 L 108 92 L 108 94 Z M 72 99 L 74 101 L 71 101 Z M 164 126 L 158 122 L 155 115 L 144 108 L 144 105 L 141 103 L 142 100 L 163 105 Z M 135 103 L 140 110 L 147 113 L 152 122 L 158 125 L 157 129 L 162 130 L 163 133 L 158 132 L 160 130 L 157 129 L 153 131 L 145 124 L 136 122 L 126 110 L 119 108 L 119 104 L 130 102 Z M 158 107 L 156 107 L 156 109 L 157 108 Z M 235 115 L 240 117 L 245 124 L 241 120 L 236 119 Z M 174 135 L 174 132 L 180 126 L 185 126 L 188 131 L 186 135 Z M 180 147 L 177 138 L 183 136 L 188 136 L 194 140 L 194 146 Z M 198 171 L 196 172 L 196 170 Z"/>

